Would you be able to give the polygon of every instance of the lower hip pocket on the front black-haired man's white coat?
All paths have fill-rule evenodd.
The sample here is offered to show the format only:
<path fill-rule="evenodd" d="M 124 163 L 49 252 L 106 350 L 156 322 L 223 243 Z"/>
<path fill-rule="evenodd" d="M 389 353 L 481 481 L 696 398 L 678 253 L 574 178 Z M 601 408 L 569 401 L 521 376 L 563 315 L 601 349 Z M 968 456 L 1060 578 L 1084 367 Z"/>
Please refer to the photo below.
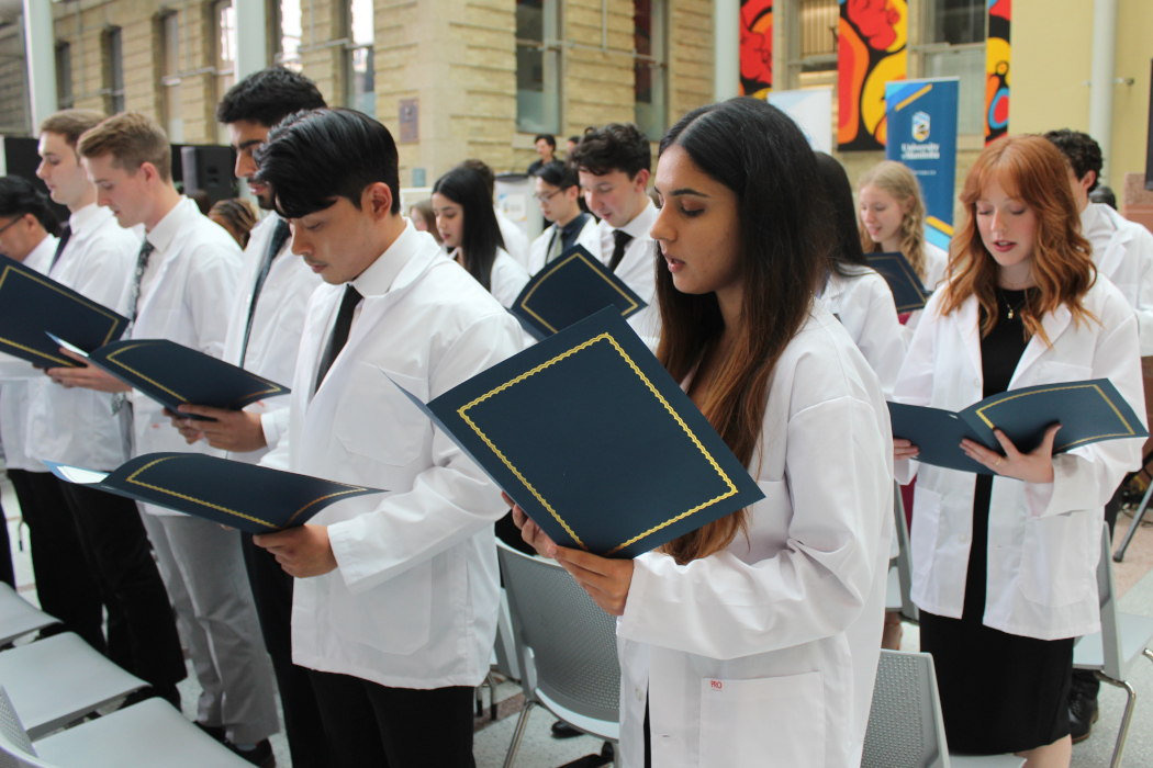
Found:
<path fill-rule="evenodd" d="M 397 655 L 413 653 L 428 644 L 431 561 L 355 595 L 339 578 L 330 579 L 329 584 L 330 621 L 340 637 Z"/>

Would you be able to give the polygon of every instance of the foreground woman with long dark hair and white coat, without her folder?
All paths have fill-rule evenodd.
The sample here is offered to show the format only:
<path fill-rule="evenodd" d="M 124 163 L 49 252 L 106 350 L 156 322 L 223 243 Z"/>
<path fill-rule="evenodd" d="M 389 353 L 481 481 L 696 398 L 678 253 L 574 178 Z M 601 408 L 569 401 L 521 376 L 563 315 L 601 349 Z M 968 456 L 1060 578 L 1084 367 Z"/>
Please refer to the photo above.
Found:
<path fill-rule="evenodd" d="M 625 561 L 514 515 L 620 616 L 624 765 L 858 766 L 891 439 L 876 375 L 815 301 L 832 246 L 816 160 L 784 113 L 732 99 L 670 129 L 656 189 L 657 357 L 766 499 Z"/>

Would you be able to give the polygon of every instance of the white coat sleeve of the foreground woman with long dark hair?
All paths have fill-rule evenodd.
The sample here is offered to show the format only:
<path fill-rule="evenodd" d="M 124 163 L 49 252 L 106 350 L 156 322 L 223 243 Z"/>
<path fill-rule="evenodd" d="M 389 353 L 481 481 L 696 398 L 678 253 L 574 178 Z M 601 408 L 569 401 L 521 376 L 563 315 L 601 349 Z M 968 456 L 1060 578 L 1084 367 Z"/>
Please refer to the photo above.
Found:
<path fill-rule="evenodd" d="M 687 565 L 655 553 L 638 557 L 618 636 L 736 659 L 844 631 L 873 586 L 892 514 L 892 448 L 879 421 L 887 419 L 847 396 L 790 418 L 792 518 L 783 548 L 755 563 L 729 552 Z"/>

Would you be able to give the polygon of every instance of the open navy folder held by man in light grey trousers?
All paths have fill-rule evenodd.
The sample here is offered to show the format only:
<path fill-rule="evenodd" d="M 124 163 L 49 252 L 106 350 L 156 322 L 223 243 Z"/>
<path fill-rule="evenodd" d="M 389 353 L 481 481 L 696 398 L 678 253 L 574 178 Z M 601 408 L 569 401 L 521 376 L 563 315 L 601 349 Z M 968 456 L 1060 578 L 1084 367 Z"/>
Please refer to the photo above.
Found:
<path fill-rule="evenodd" d="M 60 347 L 75 344 L 53 336 Z M 126 339 L 86 353 L 88 360 L 171 411 L 179 405 L 209 405 L 239 411 L 287 395 L 289 389 L 250 371 L 166 339 Z M 205 417 L 189 416 L 204 420 Z M 211 419 L 208 419 L 211 420 Z"/>

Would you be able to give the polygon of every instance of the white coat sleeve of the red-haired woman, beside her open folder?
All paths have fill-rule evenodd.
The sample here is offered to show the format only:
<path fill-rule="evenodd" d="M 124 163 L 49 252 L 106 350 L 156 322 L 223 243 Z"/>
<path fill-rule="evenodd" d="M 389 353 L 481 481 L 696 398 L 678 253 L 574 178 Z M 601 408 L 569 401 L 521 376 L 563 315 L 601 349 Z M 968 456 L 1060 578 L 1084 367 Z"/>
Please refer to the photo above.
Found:
<path fill-rule="evenodd" d="M 1137 356 L 1137 319 L 1101 318 L 1107 330 L 1093 355 L 1091 379 L 1108 379 L 1145 424 L 1145 390 Z M 1060 433 L 1058 433 L 1060 435 Z M 1053 482 L 1025 484 L 1025 503 L 1033 517 L 1100 509 L 1121 485 L 1125 472 L 1140 466 L 1140 440 L 1106 440 L 1075 448 L 1053 458 Z"/>

